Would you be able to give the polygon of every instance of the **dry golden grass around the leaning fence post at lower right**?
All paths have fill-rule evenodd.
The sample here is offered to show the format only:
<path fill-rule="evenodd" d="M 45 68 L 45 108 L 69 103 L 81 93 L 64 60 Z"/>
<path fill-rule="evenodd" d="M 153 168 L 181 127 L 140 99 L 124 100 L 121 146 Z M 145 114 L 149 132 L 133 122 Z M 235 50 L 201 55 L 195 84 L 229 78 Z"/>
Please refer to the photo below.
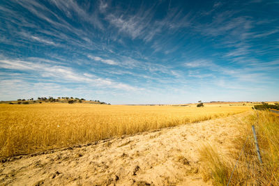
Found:
<path fill-rule="evenodd" d="M 202 148 L 205 167 L 209 168 L 205 169 L 206 176 L 212 178 L 215 185 L 227 185 L 236 160 L 240 157 L 229 185 L 279 185 L 279 115 L 256 111 L 242 123 L 245 127 L 241 130 L 241 137 L 235 141 L 233 162 L 220 159 L 220 155 L 211 146 Z M 255 125 L 257 132 L 262 164 L 255 150 L 252 125 Z"/>

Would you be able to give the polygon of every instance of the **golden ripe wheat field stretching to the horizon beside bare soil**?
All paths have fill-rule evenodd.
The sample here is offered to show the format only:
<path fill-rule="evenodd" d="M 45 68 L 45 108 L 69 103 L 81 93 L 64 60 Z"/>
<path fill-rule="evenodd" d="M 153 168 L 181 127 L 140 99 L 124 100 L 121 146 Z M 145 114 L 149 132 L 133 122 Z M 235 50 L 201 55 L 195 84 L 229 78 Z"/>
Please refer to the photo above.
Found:
<path fill-rule="evenodd" d="M 237 114 L 250 106 L 0 105 L 0 157 Z"/>

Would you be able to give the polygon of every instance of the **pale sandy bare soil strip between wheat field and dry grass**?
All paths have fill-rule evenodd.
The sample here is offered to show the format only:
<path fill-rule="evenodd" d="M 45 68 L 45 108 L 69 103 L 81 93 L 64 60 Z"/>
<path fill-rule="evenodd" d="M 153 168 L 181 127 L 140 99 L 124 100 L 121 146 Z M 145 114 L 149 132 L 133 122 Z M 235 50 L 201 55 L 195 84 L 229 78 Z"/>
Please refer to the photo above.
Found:
<path fill-rule="evenodd" d="M 212 185 L 200 146 L 229 157 L 248 114 L 2 160 L 0 185 Z"/>

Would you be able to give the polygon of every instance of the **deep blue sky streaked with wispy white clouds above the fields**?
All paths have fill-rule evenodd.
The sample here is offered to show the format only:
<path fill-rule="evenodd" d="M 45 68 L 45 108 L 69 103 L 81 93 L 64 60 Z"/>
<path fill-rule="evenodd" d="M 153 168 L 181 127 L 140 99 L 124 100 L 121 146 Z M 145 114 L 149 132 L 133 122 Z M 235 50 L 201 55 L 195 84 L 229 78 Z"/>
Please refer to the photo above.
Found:
<path fill-rule="evenodd" d="M 0 100 L 279 100 L 279 1 L 0 1 Z"/>

